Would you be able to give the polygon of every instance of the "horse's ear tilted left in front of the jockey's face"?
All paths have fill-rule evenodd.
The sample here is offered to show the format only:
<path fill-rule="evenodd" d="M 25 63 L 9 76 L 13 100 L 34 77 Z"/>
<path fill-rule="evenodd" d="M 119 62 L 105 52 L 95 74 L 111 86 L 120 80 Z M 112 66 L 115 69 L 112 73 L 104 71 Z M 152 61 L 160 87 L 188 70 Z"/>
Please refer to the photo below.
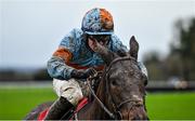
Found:
<path fill-rule="evenodd" d="M 108 49 L 101 45 L 100 43 L 96 43 L 95 52 L 102 57 L 106 65 L 109 65 L 109 63 L 116 56 L 113 52 L 110 52 Z"/>

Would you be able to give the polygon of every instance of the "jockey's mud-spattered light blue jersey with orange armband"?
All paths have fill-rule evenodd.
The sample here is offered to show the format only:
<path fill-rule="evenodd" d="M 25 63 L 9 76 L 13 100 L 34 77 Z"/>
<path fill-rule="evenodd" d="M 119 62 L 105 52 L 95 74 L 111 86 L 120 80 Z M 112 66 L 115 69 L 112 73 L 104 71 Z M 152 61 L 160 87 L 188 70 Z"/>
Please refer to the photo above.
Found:
<path fill-rule="evenodd" d="M 87 45 L 86 39 L 81 29 L 73 29 L 62 39 L 58 49 L 48 62 L 48 72 L 52 78 L 68 80 L 74 68 L 103 69 L 103 59 Z M 108 50 L 128 51 L 116 35 L 110 36 Z"/>

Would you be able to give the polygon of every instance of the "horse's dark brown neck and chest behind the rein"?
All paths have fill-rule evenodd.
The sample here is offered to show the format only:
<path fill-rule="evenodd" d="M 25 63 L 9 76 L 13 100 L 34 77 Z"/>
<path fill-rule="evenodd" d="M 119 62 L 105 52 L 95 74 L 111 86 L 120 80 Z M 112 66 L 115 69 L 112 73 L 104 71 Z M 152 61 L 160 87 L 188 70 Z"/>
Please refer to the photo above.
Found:
<path fill-rule="evenodd" d="M 100 82 L 96 96 L 103 104 L 105 104 L 106 95 L 105 95 L 105 89 L 104 89 L 105 86 L 103 84 L 103 81 L 104 80 Z M 105 111 L 103 110 L 103 108 L 100 106 L 99 102 L 95 98 L 91 104 L 86 106 L 79 113 L 79 119 L 88 119 L 88 120 L 89 119 L 107 119 L 106 117 L 107 115 L 105 113 Z"/>

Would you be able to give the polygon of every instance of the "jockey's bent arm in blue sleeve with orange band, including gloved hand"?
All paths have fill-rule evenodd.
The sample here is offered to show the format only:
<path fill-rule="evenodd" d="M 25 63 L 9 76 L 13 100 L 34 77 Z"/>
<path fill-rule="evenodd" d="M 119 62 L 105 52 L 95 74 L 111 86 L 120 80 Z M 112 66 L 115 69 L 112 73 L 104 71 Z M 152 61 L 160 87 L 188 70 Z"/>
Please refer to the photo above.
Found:
<path fill-rule="evenodd" d="M 78 54 L 80 49 L 80 43 L 78 41 L 80 31 L 73 29 L 68 35 L 66 35 L 58 49 L 54 52 L 53 56 L 48 60 L 48 72 L 50 77 L 68 80 L 70 78 L 86 79 L 92 69 L 77 70 L 69 66 L 74 55 Z"/>

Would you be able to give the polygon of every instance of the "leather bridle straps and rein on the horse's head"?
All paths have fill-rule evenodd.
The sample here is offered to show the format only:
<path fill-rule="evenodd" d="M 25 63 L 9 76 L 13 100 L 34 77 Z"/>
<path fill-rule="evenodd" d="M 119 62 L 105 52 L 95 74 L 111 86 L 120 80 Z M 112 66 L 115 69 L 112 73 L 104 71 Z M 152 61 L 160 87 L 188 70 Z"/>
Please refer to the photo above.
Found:
<path fill-rule="evenodd" d="M 110 103 L 113 104 L 114 112 L 112 112 L 112 111 L 99 99 L 99 97 L 98 97 L 96 94 L 94 93 L 93 89 L 91 88 L 90 82 L 91 82 L 93 79 L 95 79 L 98 75 L 94 75 L 93 77 L 90 77 L 90 78 L 87 79 L 87 80 L 88 80 L 88 81 L 87 81 L 87 82 L 88 82 L 88 86 L 89 86 L 92 95 L 94 96 L 94 98 L 98 100 L 98 103 L 100 104 L 100 106 L 102 107 L 102 109 L 104 109 L 105 112 L 106 112 L 112 119 L 115 119 L 115 120 L 121 119 L 121 112 L 119 111 L 119 109 L 120 109 L 120 107 L 121 107 L 122 105 L 128 104 L 128 103 L 131 103 L 131 105 L 130 105 L 131 107 L 130 107 L 130 108 L 132 108 L 132 106 L 143 106 L 143 104 L 140 104 L 138 100 L 134 100 L 134 99 L 131 99 L 131 98 L 128 98 L 128 99 L 121 102 L 121 103 L 118 104 L 118 105 L 117 105 L 117 104 L 114 102 L 114 99 L 113 99 L 113 95 L 112 95 L 112 93 L 110 93 L 109 90 L 108 90 L 108 76 L 107 76 L 107 75 L 109 73 L 109 70 L 110 70 L 112 66 L 113 66 L 114 64 L 118 63 L 118 62 L 121 62 L 121 60 L 134 60 L 134 62 L 136 63 L 136 59 L 135 59 L 134 57 L 132 57 L 132 56 L 125 56 L 125 57 L 115 58 L 115 59 L 104 69 L 103 76 L 102 76 L 102 80 L 101 80 L 101 81 L 103 81 L 103 80 L 106 81 L 106 93 L 107 93 L 108 95 L 110 95 L 110 96 L 109 96 L 109 99 L 110 99 Z"/>

